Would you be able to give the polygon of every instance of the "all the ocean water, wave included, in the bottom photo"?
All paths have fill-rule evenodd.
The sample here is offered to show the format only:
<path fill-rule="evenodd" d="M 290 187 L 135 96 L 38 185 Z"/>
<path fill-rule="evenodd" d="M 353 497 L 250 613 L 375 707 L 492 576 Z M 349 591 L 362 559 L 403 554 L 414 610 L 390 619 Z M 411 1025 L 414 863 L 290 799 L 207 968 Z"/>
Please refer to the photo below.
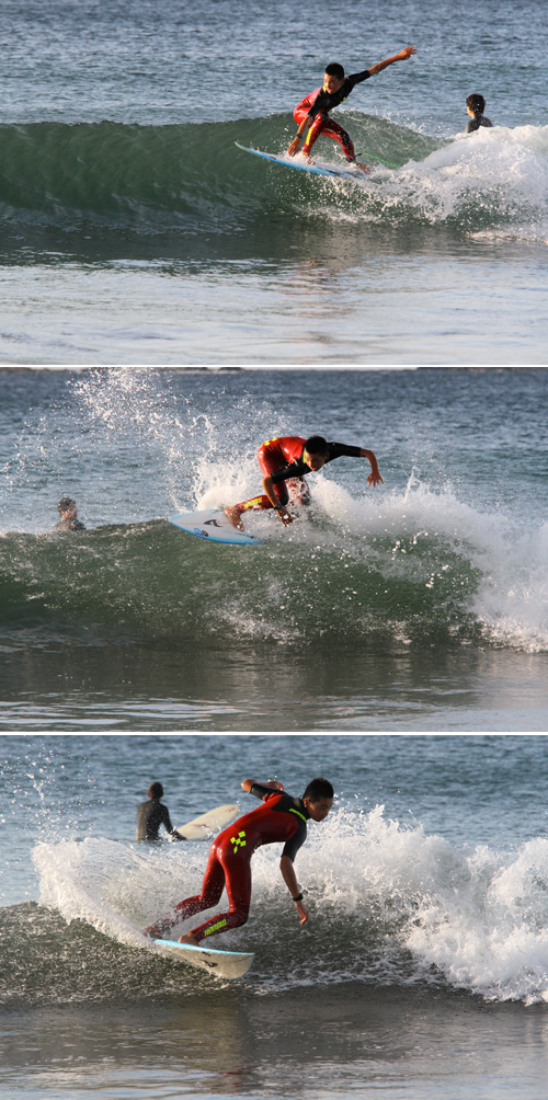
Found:
<path fill-rule="evenodd" d="M 547 751 L 542 736 L 3 737 L 0 1097 L 542 1100 Z M 199 887 L 208 844 L 133 842 L 151 780 L 182 825 L 246 812 L 242 778 L 297 793 L 318 772 L 336 801 L 295 864 L 308 924 L 265 846 L 248 924 L 215 944 L 253 950 L 249 975 L 156 957 L 142 928 Z"/>

